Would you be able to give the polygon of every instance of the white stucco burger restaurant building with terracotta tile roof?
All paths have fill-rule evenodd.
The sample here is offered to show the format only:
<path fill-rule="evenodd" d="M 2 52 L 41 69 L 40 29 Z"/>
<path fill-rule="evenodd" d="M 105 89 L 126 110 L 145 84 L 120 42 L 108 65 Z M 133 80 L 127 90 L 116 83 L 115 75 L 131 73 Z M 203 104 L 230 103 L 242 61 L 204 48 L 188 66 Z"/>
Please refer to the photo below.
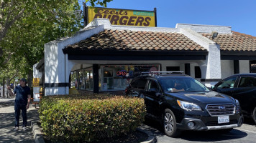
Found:
<path fill-rule="evenodd" d="M 230 26 L 176 24 L 175 28 L 116 26 L 93 19 L 71 37 L 45 44 L 34 65 L 45 95 L 69 94 L 70 87 L 124 91 L 148 71 L 184 71 L 207 87 L 256 64 L 256 38 Z M 40 87 L 34 87 L 34 94 Z"/>

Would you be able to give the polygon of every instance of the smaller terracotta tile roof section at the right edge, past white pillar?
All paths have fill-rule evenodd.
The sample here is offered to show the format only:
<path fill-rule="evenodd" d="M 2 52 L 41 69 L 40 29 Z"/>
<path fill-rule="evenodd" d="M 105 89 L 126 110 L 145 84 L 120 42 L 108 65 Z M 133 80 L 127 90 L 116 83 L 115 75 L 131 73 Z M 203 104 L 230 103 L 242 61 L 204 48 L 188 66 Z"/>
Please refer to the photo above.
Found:
<path fill-rule="evenodd" d="M 211 34 L 202 34 L 220 45 L 221 51 L 256 51 L 256 37 L 232 31 L 232 34 L 218 34 L 214 39 Z"/>

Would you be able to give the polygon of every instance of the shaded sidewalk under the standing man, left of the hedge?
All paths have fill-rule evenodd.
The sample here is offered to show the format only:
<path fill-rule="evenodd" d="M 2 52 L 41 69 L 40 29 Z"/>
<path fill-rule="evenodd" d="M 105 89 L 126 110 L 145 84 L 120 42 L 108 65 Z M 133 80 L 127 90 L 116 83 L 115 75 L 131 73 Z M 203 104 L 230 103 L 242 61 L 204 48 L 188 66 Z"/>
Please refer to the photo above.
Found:
<path fill-rule="evenodd" d="M 14 98 L 0 98 L 0 143 L 6 142 L 35 142 L 31 122 L 39 118 L 38 109 L 30 104 L 27 110 L 27 131 L 22 131 L 22 114 L 19 117 L 19 131 L 14 132 Z"/>

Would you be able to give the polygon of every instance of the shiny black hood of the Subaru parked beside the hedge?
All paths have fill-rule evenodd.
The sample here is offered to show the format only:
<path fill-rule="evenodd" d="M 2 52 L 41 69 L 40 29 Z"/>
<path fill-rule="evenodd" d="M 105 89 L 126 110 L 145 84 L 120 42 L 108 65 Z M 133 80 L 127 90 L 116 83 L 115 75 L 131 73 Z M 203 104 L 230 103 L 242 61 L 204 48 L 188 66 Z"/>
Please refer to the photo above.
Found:
<path fill-rule="evenodd" d="M 178 92 L 167 93 L 175 96 L 184 102 L 207 103 L 207 104 L 227 104 L 234 103 L 234 99 L 218 92 Z"/>

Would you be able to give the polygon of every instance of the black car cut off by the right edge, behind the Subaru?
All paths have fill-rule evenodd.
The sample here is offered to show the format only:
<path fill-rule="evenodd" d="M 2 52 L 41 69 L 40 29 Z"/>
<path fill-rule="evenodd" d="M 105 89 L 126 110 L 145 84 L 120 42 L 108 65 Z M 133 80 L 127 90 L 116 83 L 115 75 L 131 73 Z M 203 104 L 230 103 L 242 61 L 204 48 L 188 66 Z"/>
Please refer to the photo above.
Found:
<path fill-rule="evenodd" d="M 256 74 L 234 74 L 211 88 L 237 99 L 244 117 L 252 117 L 256 124 Z"/>

